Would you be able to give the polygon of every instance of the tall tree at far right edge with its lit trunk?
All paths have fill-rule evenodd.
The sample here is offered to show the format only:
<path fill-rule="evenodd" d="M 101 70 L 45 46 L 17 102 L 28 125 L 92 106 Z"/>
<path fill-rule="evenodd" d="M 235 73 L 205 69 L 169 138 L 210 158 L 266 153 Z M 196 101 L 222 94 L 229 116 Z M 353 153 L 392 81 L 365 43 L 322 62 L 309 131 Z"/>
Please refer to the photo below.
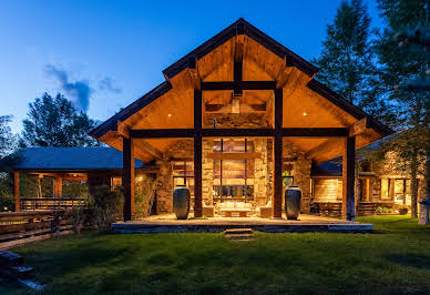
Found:
<path fill-rule="evenodd" d="M 429 155 L 429 92 L 426 87 L 417 87 L 427 80 L 429 73 L 429 52 L 427 45 L 420 50 L 406 44 L 419 43 L 426 38 L 410 38 L 411 28 L 429 28 L 429 1 L 422 0 L 378 0 L 378 7 L 387 28 L 379 34 L 375 44 L 381 64 L 379 77 L 386 88 L 387 99 L 398 109 L 402 128 L 400 135 L 390 142 L 388 149 L 395 150 L 408 163 L 411 175 L 411 215 L 417 217 L 420 157 Z M 416 35 L 417 37 L 417 35 Z M 399 45 L 399 39 L 401 44 Z M 417 81 L 420 81 L 417 84 Z M 427 151 L 427 152 L 426 152 Z"/>

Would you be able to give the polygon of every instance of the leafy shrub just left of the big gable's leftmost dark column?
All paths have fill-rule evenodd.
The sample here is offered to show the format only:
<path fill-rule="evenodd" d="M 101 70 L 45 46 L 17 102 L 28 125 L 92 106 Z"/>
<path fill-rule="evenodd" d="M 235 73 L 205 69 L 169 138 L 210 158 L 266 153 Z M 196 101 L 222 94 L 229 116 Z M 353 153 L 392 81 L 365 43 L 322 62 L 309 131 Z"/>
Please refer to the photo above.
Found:
<path fill-rule="evenodd" d="M 111 224 L 122 216 L 124 197 L 121 190 L 108 185 L 94 187 L 92 194 L 93 221 L 99 232 L 109 232 Z"/>

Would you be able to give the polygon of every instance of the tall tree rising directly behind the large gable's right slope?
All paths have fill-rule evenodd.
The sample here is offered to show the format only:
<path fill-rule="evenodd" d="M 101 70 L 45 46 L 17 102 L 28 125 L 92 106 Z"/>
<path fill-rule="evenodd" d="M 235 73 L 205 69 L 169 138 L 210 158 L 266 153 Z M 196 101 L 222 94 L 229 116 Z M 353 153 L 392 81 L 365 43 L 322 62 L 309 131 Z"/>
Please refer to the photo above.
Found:
<path fill-rule="evenodd" d="M 316 78 L 350 103 L 391 124 L 390 108 L 376 87 L 370 21 L 362 0 L 341 2 L 334 23 L 327 26 L 320 57 L 315 60 L 320 68 Z"/>

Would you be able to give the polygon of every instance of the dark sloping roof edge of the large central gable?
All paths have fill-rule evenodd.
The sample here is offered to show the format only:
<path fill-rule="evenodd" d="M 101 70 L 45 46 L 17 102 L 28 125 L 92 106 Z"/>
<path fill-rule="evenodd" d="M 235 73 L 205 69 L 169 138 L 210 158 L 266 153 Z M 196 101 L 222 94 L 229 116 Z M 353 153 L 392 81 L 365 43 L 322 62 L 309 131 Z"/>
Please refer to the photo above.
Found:
<path fill-rule="evenodd" d="M 249 37 L 250 39 L 255 40 L 263 47 L 265 47 L 267 50 L 272 51 L 276 55 L 278 55 L 281 59 L 286 60 L 287 67 L 295 67 L 305 74 L 307 74 L 310 78 L 314 78 L 314 75 L 318 72 L 318 68 L 311 64 L 310 62 L 306 61 L 298 54 L 294 53 L 273 38 L 268 37 L 254 26 L 252 26 L 249 22 L 244 20 L 243 18 L 238 19 L 236 22 L 221 31 L 218 34 L 214 35 L 190 53 L 187 53 L 185 57 L 163 70 L 163 74 L 166 78 L 166 81 L 158 84 L 156 88 L 127 105 L 126 108 L 122 109 L 119 113 L 96 126 L 90 132 L 90 135 L 100 139 L 103 134 L 105 134 L 108 131 L 116 131 L 117 121 L 123 122 L 127 118 L 135 114 L 139 110 L 143 109 L 144 106 L 149 105 L 151 102 L 160 98 L 161 95 L 165 94 L 172 89 L 172 84 L 168 82 L 170 79 L 182 72 L 183 70 L 187 68 L 195 67 L 195 63 L 197 60 L 205 57 L 207 53 L 216 49 L 217 47 L 222 45 L 223 43 L 227 42 L 231 38 L 238 35 L 238 34 L 245 34 Z M 392 134 L 392 130 L 385 126 L 377 120 L 370 118 L 366 112 L 360 110 L 359 108 L 352 105 L 345 99 L 342 99 L 340 95 L 338 95 L 332 90 L 328 89 L 324 84 L 321 84 L 318 81 L 310 80 L 307 84 L 307 87 L 320 94 L 321 96 L 326 98 L 328 101 L 332 102 L 340 109 L 342 109 L 345 112 L 349 113 L 357 120 L 361 120 L 364 118 L 368 118 L 368 128 L 373 129 L 378 133 L 380 133 L 382 136 Z"/>

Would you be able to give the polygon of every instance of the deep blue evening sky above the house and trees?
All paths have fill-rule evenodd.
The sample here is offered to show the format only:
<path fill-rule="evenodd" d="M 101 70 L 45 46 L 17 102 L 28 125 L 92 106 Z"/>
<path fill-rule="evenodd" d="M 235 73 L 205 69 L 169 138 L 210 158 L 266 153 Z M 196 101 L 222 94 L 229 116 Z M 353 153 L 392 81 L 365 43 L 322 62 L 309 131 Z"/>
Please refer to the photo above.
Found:
<path fill-rule="evenodd" d="M 12 130 L 20 132 L 29 102 L 59 91 L 73 100 L 83 87 L 89 115 L 105 120 L 162 82 L 162 70 L 240 17 L 311 59 L 339 3 L 2 0 L 0 115 L 12 114 Z M 376 3 L 367 3 L 372 26 L 379 27 Z"/>

